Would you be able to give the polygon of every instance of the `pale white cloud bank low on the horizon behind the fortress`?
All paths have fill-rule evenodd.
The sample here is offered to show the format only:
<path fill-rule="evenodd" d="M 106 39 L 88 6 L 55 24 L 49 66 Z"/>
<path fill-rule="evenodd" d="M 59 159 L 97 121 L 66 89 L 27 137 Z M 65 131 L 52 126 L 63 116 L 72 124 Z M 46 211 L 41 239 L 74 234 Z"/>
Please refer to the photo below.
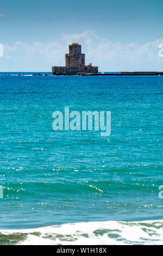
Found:
<path fill-rule="evenodd" d="M 99 71 L 162 71 L 163 58 L 159 57 L 159 45 L 163 38 L 139 45 L 136 42 L 112 42 L 99 38 L 95 31 L 80 34 L 62 34 L 60 42 L 17 41 L 14 45 L 4 45 L 4 58 L 12 63 L 15 71 L 24 66 L 24 71 L 51 71 L 52 65 L 65 65 L 64 56 L 68 44 L 77 41 L 86 54 L 86 64 L 98 65 Z M 7 65 L 7 62 L 5 62 Z M 32 69 L 31 69 L 32 68 Z M 14 70 L 13 70 L 14 71 Z M 17 70 L 18 71 L 18 70 Z M 20 71 L 23 71 L 20 69 Z"/>

